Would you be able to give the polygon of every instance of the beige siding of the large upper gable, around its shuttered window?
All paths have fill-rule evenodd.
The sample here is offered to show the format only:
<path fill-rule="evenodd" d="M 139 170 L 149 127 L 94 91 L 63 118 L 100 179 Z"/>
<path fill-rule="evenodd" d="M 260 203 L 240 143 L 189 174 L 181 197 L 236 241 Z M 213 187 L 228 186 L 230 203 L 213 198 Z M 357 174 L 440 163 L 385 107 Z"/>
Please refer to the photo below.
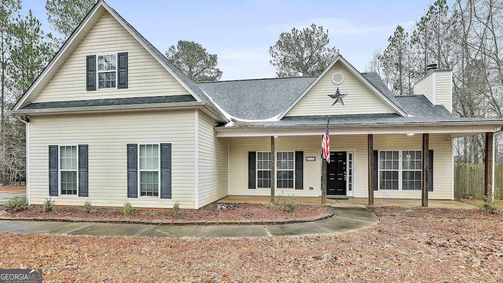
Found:
<path fill-rule="evenodd" d="M 86 91 L 86 56 L 128 52 L 128 88 Z M 33 102 L 184 95 L 189 92 L 108 12 Z"/>

